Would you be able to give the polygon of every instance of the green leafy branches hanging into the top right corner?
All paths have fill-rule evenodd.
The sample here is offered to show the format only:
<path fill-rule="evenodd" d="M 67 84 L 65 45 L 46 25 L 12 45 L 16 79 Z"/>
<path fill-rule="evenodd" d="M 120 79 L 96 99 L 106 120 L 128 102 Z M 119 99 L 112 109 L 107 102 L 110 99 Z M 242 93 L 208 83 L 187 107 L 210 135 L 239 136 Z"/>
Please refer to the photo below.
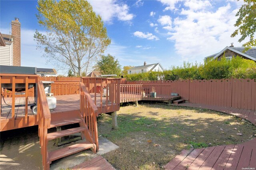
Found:
<path fill-rule="evenodd" d="M 231 35 L 235 37 L 238 33 L 241 34 L 241 38 L 238 42 L 242 42 L 246 37 L 250 38 L 250 41 L 243 44 L 245 47 L 244 51 L 250 49 L 250 47 L 256 46 L 256 1 L 255 0 L 244 0 L 244 4 L 236 13 L 236 16 L 239 16 L 236 20 L 234 26 L 238 27 Z"/>

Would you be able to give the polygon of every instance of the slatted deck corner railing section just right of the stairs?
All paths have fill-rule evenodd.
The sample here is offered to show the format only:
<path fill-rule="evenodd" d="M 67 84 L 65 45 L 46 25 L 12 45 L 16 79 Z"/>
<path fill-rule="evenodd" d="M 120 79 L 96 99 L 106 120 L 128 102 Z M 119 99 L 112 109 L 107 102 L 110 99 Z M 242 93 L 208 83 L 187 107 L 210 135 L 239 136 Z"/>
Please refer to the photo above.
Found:
<path fill-rule="evenodd" d="M 82 77 L 82 82 L 99 109 L 97 114 L 120 109 L 120 79 Z"/>

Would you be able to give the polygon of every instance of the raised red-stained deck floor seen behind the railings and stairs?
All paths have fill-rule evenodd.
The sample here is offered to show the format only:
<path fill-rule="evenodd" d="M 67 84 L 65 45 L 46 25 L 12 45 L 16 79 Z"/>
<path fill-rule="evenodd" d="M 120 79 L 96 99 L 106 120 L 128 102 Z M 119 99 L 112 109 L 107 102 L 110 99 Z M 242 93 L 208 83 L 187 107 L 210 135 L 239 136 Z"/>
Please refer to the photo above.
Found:
<path fill-rule="evenodd" d="M 95 93 L 91 93 L 90 96 L 92 97 L 92 100 L 95 102 Z M 58 115 L 60 114 L 70 114 L 72 112 L 79 112 L 80 111 L 80 95 L 60 95 L 60 96 L 54 96 L 57 99 L 57 105 L 56 108 L 53 111 L 50 111 L 52 114 L 52 120 L 58 119 Z M 12 105 L 12 98 L 11 97 L 5 97 L 4 98 L 6 103 L 10 103 Z M 98 108 L 97 115 L 101 113 L 108 113 L 111 112 L 112 105 L 117 105 L 117 103 L 110 103 L 108 102 L 106 104 L 106 97 L 102 97 L 102 104 L 100 102 L 100 94 L 96 93 L 96 106 Z M 16 97 L 15 98 L 15 105 L 21 105 L 24 104 L 25 97 Z M 34 103 L 34 97 L 28 98 L 28 103 Z M 3 102 L 2 99 L 2 105 L 6 105 Z M 55 114 L 58 114 L 54 116 Z M 1 131 L 4 130 L 11 130 L 15 128 L 22 128 L 22 127 L 29 127 L 38 125 L 37 122 L 37 115 L 33 115 L 32 110 L 30 109 L 30 106 L 28 106 L 28 123 L 25 124 L 25 107 L 24 106 L 18 106 L 15 107 L 15 126 L 11 126 L 11 119 L 12 119 L 12 108 L 4 108 L 1 111 Z"/>

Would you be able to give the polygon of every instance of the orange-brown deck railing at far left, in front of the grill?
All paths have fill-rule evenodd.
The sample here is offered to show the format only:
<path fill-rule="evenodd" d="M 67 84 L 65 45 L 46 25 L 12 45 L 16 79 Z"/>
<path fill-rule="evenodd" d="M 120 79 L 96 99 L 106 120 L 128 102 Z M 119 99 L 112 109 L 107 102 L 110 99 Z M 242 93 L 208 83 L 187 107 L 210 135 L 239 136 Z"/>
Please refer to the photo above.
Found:
<path fill-rule="evenodd" d="M 6 119 L 8 119 L 8 123 L 5 125 L 2 125 L 1 123 L 1 131 L 2 130 L 10 130 L 10 129 L 14 129 L 14 128 L 19 128 L 19 127 L 26 127 L 29 124 L 28 121 L 28 97 L 29 97 L 29 86 L 30 85 L 36 85 L 36 83 L 38 82 L 38 75 L 26 75 L 26 74 L 0 74 L 0 85 L 5 84 L 8 85 L 11 90 L 9 89 L 10 97 L 7 98 L 7 96 L 2 95 L 2 90 L 1 90 L 1 116 L 2 116 L 2 112 L 4 108 L 10 108 L 10 114 L 12 115 L 10 119 L 8 119 L 6 117 Z M 22 99 L 22 102 L 20 101 L 16 101 L 16 97 L 17 95 L 15 95 L 15 91 L 16 88 L 18 88 L 19 85 L 23 84 L 25 86 L 25 91 L 24 91 L 24 98 Z M 34 96 L 34 95 L 33 95 Z M 3 100 L 2 100 L 3 98 Z M 23 102 L 24 100 L 24 102 Z M 2 103 L 3 101 L 3 103 Z M 9 103 L 7 103 L 7 101 L 10 101 Z M 16 103 L 15 103 L 16 101 Z M 6 103 L 5 103 L 6 102 Z M 24 110 L 25 110 L 25 115 L 22 118 L 21 121 L 15 122 L 16 119 L 18 119 L 15 115 L 16 112 L 18 112 L 17 109 L 15 109 L 15 104 L 16 105 L 24 105 Z M 6 119 L 4 119 L 4 121 L 6 121 Z M 3 121 L 1 119 L 1 121 Z"/>

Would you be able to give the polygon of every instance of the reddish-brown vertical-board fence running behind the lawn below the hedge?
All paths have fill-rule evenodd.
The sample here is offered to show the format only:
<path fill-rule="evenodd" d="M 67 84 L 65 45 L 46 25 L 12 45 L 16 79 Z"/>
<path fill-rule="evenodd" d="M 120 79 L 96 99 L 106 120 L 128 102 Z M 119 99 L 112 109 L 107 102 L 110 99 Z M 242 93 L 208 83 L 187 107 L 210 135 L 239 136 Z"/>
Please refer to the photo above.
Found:
<path fill-rule="evenodd" d="M 127 84 L 168 84 L 172 93 L 178 93 L 190 103 L 256 110 L 256 81 L 252 79 L 133 81 Z"/>

